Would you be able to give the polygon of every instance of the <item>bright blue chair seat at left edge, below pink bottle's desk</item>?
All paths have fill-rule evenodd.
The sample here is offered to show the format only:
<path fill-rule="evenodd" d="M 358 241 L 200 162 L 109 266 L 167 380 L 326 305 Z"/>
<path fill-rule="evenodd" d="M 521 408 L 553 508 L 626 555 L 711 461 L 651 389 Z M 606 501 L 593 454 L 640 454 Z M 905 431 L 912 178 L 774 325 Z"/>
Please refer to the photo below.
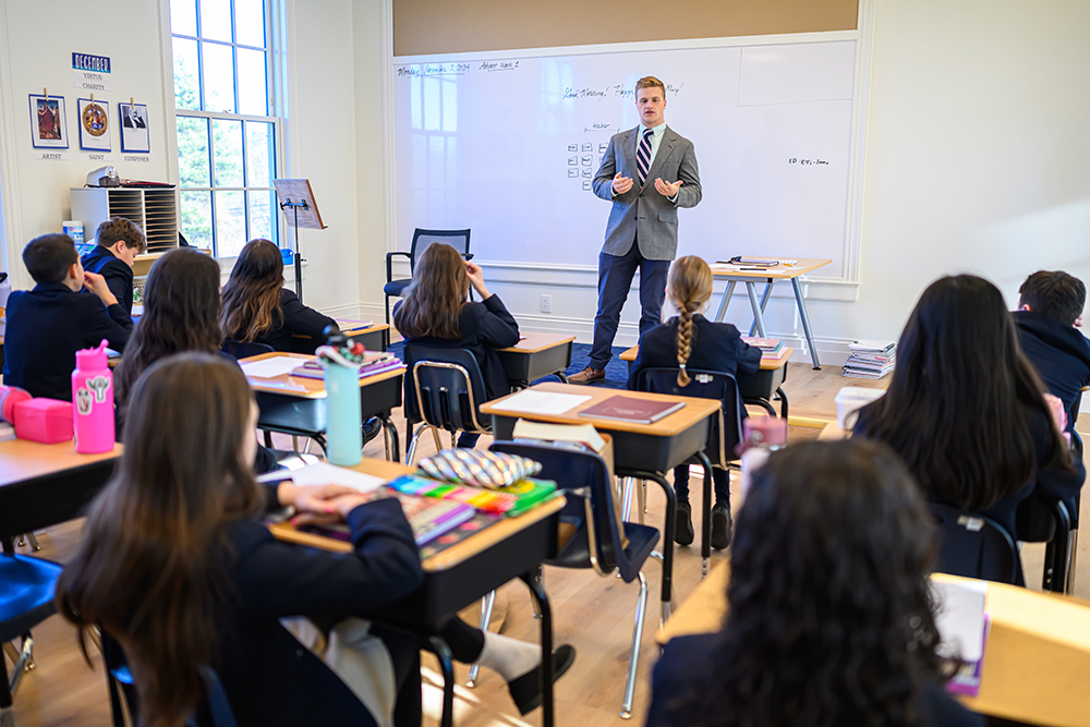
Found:
<path fill-rule="evenodd" d="M 23 673 L 34 669 L 31 628 L 56 613 L 53 592 L 60 575 L 61 567 L 55 562 L 10 553 L 0 555 L 0 643 L 14 666 L 9 681 L 8 665 L 0 655 L 0 663 L 3 663 L 0 725 L 3 727 L 15 725 L 12 698 Z M 16 638 L 22 641 L 21 649 L 15 649 Z"/>

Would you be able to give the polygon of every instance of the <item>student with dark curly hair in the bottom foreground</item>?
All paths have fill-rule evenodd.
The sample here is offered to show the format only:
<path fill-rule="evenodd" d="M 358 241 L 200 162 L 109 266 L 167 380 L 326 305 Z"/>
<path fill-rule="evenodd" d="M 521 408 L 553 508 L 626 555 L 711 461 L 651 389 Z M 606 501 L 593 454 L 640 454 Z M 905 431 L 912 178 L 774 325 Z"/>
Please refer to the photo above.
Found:
<path fill-rule="evenodd" d="M 647 727 L 982 726 L 943 689 L 934 530 L 884 445 L 774 452 L 738 512 L 723 630 L 666 644 Z"/>

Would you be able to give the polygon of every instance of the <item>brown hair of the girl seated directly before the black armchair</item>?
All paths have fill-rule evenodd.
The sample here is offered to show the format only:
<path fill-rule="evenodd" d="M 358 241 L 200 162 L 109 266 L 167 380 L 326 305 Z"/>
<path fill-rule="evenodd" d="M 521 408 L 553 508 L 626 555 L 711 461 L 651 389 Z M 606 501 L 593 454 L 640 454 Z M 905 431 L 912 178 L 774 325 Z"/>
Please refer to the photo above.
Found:
<path fill-rule="evenodd" d="M 393 325 L 405 338 L 458 338 L 458 315 L 469 291 L 465 260 L 450 245 L 433 242 L 416 260 Z"/>

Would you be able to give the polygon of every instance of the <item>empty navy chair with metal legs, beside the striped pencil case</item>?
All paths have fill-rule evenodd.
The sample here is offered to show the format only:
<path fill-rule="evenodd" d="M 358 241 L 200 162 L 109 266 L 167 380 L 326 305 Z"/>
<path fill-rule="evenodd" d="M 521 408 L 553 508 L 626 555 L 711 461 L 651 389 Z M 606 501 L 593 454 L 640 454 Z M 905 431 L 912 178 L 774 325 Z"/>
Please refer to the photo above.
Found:
<path fill-rule="evenodd" d="M 560 546 L 555 557 L 545 561 L 546 565 L 558 568 L 593 568 L 603 577 L 617 571 L 626 583 L 640 581 L 632 625 L 632 645 L 628 653 L 628 677 L 620 711 L 622 719 L 631 719 L 635 676 L 640 666 L 643 616 L 647 608 L 647 579 L 642 569 L 658 542 L 658 529 L 617 521 L 609 470 L 605 460 L 594 452 L 564 445 L 554 447 L 546 443 L 514 441 L 496 441 L 491 449 L 541 462 L 542 472 L 538 476 L 555 481 L 568 497 L 568 505 L 561 510 L 560 520 L 576 525 L 577 531 Z M 622 545 L 622 532 L 628 537 L 627 548 Z M 482 616 L 485 628 L 486 618 L 486 615 Z"/>

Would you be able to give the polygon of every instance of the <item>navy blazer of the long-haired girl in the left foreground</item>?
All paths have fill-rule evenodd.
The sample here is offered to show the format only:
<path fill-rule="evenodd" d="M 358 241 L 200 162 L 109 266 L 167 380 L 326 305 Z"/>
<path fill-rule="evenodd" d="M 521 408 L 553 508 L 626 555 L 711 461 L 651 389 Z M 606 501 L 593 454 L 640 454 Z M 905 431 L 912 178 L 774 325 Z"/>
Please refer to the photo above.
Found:
<path fill-rule="evenodd" d="M 416 543 L 397 499 L 361 505 L 348 524 L 352 554 L 283 543 L 261 522 L 228 529 L 233 590 L 226 595 L 216 669 L 240 727 L 376 724 L 279 620 L 305 616 L 331 623 L 366 616 L 421 585 Z"/>

